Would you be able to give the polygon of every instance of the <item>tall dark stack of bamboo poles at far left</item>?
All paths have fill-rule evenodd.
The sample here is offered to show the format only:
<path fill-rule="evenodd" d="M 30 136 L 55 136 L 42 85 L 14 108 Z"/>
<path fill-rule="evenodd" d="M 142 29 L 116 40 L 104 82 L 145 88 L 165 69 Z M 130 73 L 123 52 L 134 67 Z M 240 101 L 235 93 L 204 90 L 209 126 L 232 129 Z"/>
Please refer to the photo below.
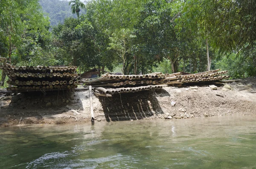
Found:
<path fill-rule="evenodd" d="M 9 77 L 7 91 L 29 92 L 54 89 L 74 89 L 80 81 L 76 66 L 13 66 L 8 63 L 0 69 Z"/>

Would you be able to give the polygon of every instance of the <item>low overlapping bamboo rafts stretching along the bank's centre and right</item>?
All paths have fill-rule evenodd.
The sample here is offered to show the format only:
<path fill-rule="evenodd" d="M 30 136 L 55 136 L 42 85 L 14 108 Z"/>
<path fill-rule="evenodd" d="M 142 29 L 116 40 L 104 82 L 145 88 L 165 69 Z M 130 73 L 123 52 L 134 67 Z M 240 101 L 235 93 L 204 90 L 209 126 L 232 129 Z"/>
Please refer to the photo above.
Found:
<path fill-rule="evenodd" d="M 230 78 L 223 74 L 227 74 L 227 71 L 216 69 L 195 74 L 186 72 L 173 74 L 157 72 L 143 75 L 103 74 L 101 77 L 83 79 L 82 82 L 95 88 L 94 95 L 112 97 L 115 94 L 161 89 L 161 85 L 192 85 L 194 83 L 221 82 L 220 80 Z"/>

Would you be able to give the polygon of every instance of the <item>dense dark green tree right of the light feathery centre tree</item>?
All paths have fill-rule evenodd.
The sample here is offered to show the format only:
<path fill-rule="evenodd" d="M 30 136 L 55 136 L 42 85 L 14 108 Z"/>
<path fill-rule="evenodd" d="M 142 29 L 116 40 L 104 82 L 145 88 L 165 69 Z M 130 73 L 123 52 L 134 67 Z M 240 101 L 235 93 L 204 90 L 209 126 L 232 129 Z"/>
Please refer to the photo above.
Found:
<path fill-rule="evenodd" d="M 140 55 L 144 57 L 143 60 L 154 63 L 167 58 L 170 60 L 172 72 L 177 72 L 184 40 L 176 34 L 172 5 L 165 0 L 148 0 L 141 10 L 136 35 L 142 49 L 140 51 L 147 56 Z"/>

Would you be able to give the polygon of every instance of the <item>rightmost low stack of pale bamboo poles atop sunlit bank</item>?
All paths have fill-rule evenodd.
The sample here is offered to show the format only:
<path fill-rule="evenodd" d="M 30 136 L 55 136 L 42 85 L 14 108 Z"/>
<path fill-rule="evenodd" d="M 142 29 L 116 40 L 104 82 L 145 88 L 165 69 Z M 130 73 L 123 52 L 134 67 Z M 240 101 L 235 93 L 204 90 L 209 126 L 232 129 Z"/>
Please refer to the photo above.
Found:
<path fill-rule="evenodd" d="M 230 78 L 230 76 L 226 76 L 223 74 L 227 74 L 227 71 L 220 71 L 220 69 L 216 69 L 195 74 L 183 74 L 182 72 L 178 72 L 166 76 L 166 78 L 164 79 L 164 83 L 175 86 L 178 84 L 218 82 L 218 80 Z"/>

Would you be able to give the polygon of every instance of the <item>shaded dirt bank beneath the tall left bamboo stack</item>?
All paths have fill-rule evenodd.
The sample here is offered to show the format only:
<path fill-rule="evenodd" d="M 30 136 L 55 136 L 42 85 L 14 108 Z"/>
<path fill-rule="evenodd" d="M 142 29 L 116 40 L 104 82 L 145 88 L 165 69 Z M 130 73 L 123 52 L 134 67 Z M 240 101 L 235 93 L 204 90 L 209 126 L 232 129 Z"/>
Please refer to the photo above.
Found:
<path fill-rule="evenodd" d="M 44 122 L 45 118 L 64 118 L 63 113 L 69 112 L 66 106 L 83 111 L 81 105 L 81 99 L 77 98 L 74 92 L 63 90 L 2 96 L 0 98 L 0 126 L 10 120 L 15 124 L 48 123 Z"/>

